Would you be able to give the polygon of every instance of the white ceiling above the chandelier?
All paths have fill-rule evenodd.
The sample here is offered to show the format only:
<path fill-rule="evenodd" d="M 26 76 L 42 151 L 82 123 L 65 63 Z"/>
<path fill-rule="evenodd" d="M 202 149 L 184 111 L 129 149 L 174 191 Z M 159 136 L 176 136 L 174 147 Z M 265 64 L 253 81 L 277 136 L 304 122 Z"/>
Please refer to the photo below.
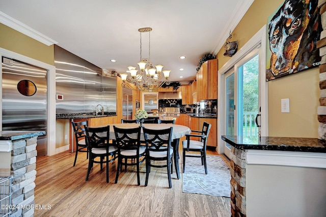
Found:
<path fill-rule="evenodd" d="M 138 29 L 152 27 L 152 63 L 171 70 L 170 81 L 188 82 L 196 77 L 201 57 L 216 54 L 224 46 L 230 30 L 252 2 L 0 0 L 0 10 L 109 72 L 125 73 L 127 66 L 137 66 Z M 142 56 L 148 57 L 148 34 L 142 34 L 142 44 Z M 183 60 L 179 58 L 182 55 L 186 56 Z M 117 60 L 116 63 L 111 59 Z"/>

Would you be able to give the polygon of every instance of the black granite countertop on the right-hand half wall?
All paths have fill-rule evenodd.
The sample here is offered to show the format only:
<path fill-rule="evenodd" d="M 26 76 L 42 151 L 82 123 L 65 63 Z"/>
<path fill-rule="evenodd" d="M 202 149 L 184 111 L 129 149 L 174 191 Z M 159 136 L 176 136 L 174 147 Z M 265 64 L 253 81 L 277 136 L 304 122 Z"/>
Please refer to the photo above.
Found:
<path fill-rule="evenodd" d="M 317 138 L 222 136 L 222 139 L 241 150 L 256 149 L 326 153 L 326 141 Z"/>

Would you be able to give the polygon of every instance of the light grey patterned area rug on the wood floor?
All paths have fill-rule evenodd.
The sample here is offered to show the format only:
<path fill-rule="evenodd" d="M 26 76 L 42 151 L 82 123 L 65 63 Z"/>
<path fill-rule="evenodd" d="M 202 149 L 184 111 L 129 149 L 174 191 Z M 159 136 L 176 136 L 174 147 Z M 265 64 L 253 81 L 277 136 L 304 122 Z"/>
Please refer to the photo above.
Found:
<path fill-rule="evenodd" d="M 182 192 L 230 197 L 230 169 L 220 156 L 206 156 L 207 171 L 200 158 L 186 158 L 182 173 Z"/>

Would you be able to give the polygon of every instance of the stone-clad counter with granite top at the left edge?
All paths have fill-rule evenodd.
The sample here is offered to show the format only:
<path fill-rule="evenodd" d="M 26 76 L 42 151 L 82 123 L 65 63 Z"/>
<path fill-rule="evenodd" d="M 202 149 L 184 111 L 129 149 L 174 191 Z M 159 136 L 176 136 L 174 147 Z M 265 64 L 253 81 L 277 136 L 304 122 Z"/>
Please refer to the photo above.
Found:
<path fill-rule="evenodd" d="M 0 131 L 0 180 L 12 179 L 11 205 L 1 207 L 0 213 L 11 216 L 33 216 L 36 178 L 37 137 L 45 131 Z M 1 184 L 1 205 L 9 205 L 8 185 Z M 8 202 L 8 203 L 7 203 Z M 26 208 L 18 208 L 26 205 Z M 9 214 L 10 216 L 10 214 Z"/>

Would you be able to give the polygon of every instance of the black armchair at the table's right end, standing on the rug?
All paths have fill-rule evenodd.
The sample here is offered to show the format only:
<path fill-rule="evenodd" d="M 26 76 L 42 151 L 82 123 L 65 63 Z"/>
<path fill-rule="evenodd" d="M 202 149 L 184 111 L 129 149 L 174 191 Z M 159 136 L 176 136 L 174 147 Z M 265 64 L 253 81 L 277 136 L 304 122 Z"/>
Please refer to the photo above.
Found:
<path fill-rule="evenodd" d="M 197 134 L 186 134 L 185 140 L 182 141 L 182 156 L 183 156 L 183 170 L 185 168 L 185 157 L 192 157 L 192 158 L 201 158 L 202 165 L 204 165 L 205 173 L 207 174 L 207 164 L 206 164 L 206 145 L 207 145 L 207 138 L 211 128 L 211 124 L 204 122 L 202 131 L 192 130 L 192 133 Z M 200 138 L 200 141 L 191 140 L 191 137 Z M 186 151 L 195 151 L 200 152 L 200 155 L 194 154 L 185 154 Z"/>

